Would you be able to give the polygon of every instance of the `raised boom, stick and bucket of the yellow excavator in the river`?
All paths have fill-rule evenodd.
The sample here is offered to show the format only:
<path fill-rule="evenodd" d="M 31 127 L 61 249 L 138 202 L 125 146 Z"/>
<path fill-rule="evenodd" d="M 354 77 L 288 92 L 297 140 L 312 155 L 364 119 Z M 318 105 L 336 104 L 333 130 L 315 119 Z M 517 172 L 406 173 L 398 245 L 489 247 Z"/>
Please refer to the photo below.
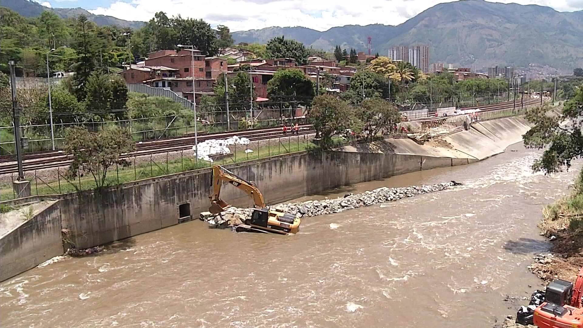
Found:
<path fill-rule="evenodd" d="M 261 191 L 259 191 L 254 183 L 244 180 L 243 178 L 237 176 L 235 173 L 223 168 L 220 165 L 215 165 L 213 166 L 213 194 L 209 196 L 209 211 L 211 213 L 217 214 L 230 207 L 229 204 L 220 199 L 220 189 L 223 182 L 230 183 L 238 189 L 243 190 L 253 199 L 253 204 L 255 207 L 266 207 L 263 194 L 261 194 Z"/>

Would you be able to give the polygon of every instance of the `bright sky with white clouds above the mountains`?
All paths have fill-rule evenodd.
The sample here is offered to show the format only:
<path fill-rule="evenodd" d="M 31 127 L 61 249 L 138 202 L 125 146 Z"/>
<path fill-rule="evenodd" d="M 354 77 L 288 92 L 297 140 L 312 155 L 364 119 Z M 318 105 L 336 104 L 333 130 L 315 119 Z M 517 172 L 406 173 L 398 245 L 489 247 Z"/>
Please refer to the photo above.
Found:
<path fill-rule="evenodd" d="M 38 0 L 37 0 L 38 1 Z M 452 0 L 44 0 L 55 8 L 81 7 L 96 15 L 147 21 L 155 12 L 168 16 L 202 18 L 213 27 L 222 24 L 231 32 L 268 26 L 305 26 L 324 31 L 333 26 L 381 23 L 398 25 L 440 2 Z M 583 9 L 583 0 L 499 0 L 550 6 L 557 11 Z"/>

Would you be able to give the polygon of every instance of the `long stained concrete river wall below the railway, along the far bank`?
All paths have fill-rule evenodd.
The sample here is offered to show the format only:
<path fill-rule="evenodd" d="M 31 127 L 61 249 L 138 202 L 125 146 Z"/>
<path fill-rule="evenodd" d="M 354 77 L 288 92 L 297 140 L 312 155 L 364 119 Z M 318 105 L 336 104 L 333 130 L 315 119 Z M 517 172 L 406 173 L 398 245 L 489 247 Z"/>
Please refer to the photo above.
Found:
<path fill-rule="evenodd" d="M 486 127 L 496 130 L 503 125 Z M 459 133 L 487 138 L 477 131 Z M 511 139 L 508 135 L 505 138 Z M 466 139 L 469 144 L 463 144 Z M 299 152 L 226 165 L 226 168 L 255 182 L 266 203 L 277 204 L 350 184 L 476 162 L 477 157 L 469 155 L 472 152 L 468 148 L 482 146 L 472 144 L 470 139 L 456 139 L 465 147 L 463 152 L 417 145 L 410 139 L 387 139 L 367 148 Z M 59 195 L 55 197 L 59 198 L 57 201 L 36 217 L 0 239 L 0 281 L 64 253 L 69 243 L 85 249 L 197 218 L 208 209 L 211 184 L 212 170 L 201 169 L 129 182 L 101 192 Z M 221 198 L 237 207 L 252 205 L 246 194 L 229 185 L 223 186 Z M 185 217 L 188 211 L 191 216 Z M 69 243 L 65 245 L 61 229 L 69 231 L 66 236 Z"/>

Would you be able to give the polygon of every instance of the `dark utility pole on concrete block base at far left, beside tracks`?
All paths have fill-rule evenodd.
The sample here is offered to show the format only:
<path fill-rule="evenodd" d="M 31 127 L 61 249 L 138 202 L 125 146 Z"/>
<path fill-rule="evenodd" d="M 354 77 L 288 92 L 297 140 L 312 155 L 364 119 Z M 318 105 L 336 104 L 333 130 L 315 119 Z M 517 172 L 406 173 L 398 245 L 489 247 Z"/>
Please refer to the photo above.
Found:
<path fill-rule="evenodd" d="M 24 180 L 24 169 L 22 167 L 22 144 L 24 138 L 20 130 L 20 108 L 16 101 L 16 72 L 14 61 L 8 62 L 10 68 L 10 90 L 12 91 L 12 117 L 14 119 L 14 141 L 16 146 L 16 162 L 18 163 L 18 177 L 12 183 L 12 188 L 18 198 L 30 196 L 30 182 Z"/>

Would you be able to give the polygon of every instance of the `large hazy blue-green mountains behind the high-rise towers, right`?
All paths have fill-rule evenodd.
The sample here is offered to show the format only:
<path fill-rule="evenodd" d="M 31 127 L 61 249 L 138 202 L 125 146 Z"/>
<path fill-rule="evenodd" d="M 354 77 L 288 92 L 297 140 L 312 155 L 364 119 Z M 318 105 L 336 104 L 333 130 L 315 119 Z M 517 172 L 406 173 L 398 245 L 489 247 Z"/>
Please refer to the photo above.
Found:
<path fill-rule="evenodd" d="M 285 36 L 332 51 L 338 44 L 387 55 L 392 46 L 430 46 L 430 62 L 486 68 L 493 65 L 549 66 L 564 72 L 583 67 L 583 11 L 557 12 L 539 5 L 465 0 L 438 4 L 400 25 L 266 27 L 234 32 L 236 42 L 266 43 Z"/>

